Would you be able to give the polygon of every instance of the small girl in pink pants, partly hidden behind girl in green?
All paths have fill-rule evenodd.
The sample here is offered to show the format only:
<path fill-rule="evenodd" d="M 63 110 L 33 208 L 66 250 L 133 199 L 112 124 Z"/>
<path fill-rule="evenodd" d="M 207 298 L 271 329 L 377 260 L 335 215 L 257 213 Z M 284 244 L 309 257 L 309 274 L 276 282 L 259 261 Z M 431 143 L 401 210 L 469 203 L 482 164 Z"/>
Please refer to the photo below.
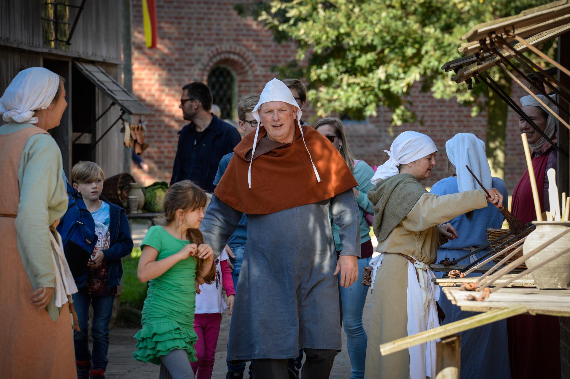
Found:
<path fill-rule="evenodd" d="M 197 379 L 210 379 L 214 368 L 215 348 L 218 344 L 219 325 L 222 322 L 224 309 L 234 308 L 234 282 L 231 279 L 230 267 L 227 266 L 227 254 L 222 254 L 214 261 L 216 281 L 202 284 L 200 294 L 196 295 L 196 312 L 194 313 L 194 331 L 198 335 L 196 357 L 198 361 L 190 362 Z M 226 290 L 227 304 L 223 300 L 222 286 Z"/>

